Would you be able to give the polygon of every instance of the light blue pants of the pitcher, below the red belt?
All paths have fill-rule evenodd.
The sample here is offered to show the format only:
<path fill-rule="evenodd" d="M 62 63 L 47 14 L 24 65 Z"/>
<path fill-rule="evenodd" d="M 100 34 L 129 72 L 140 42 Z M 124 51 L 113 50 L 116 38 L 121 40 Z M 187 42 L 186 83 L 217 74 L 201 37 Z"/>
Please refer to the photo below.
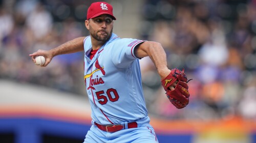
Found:
<path fill-rule="evenodd" d="M 157 137 L 150 124 L 140 124 L 138 128 L 123 129 L 117 132 L 105 132 L 92 125 L 83 143 L 157 143 Z"/>

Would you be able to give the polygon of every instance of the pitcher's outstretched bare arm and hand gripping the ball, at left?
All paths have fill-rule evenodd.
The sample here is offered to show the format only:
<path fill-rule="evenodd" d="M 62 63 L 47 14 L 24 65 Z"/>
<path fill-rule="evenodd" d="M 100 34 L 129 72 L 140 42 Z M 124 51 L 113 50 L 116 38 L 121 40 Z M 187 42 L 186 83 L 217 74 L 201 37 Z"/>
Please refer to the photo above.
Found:
<path fill-rule="evenodd" d="M 38 50 L 29 56 L 31 56 L 32 61 L 35 63 L 35 57 L 38 55 L 42 55 L 46 58 L 46 63 L 42 65 L 42 67 L 47 66 L 53 59 L 54 56 L 59 54 L 67 54 L 67 53 L 74 53 L 78 51 L 83 50 L 83 40 L 85 37 L 79 37 L 76 39 L 73 39 L 71 41 L 68 41 L 56 48 L 53 48 L 51 50 Z"/>

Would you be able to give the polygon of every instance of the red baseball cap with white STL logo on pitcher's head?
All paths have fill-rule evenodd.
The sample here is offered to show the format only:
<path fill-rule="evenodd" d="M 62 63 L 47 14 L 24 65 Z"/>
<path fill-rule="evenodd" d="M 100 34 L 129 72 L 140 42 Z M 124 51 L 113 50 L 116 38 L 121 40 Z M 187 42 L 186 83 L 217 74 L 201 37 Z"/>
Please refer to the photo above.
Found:
<path fill-rule="evenodd" d="M 113 17 L 114 20 L 116 20 L 116 17 L 113 15 L 113 7 L 106 2 L 92 3 L 87 11 L 87 20 L 102 14 L 109 14 Z"/>

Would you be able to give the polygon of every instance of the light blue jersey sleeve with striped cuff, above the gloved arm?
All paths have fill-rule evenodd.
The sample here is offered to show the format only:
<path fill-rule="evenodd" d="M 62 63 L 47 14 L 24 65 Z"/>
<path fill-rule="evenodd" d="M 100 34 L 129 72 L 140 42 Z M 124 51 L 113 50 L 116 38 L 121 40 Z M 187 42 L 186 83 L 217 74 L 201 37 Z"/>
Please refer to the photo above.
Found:
<path fill-rule="evenodd" d="M 123 69 L 129 68 L 134 60 L 138 60 L 134 54 L 135 47 L 143 42 L 143 40 L 128 38 L 114 42 L 111 55 L 114 65 Z"/>

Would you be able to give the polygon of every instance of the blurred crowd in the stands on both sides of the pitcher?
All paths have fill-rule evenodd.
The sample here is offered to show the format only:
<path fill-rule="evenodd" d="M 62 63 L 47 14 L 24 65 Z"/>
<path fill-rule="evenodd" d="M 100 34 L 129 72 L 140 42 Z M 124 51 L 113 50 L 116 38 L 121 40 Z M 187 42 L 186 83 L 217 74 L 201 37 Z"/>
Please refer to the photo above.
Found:
<path fill-rule="evenodd" d="M 87 36 L 89 1 L 0 1 L 0 79 L 85 95 L 83 52 L 56 56 L 47 68 L 29 54 Z M 148 111 L 158 118 L 256 119 L 256 1 L 147 0 L 138 35 L 157 41 L 170 69 L 185 69 L 190 101 L 176 109 L 149 58 L 140 60 Z"/>

